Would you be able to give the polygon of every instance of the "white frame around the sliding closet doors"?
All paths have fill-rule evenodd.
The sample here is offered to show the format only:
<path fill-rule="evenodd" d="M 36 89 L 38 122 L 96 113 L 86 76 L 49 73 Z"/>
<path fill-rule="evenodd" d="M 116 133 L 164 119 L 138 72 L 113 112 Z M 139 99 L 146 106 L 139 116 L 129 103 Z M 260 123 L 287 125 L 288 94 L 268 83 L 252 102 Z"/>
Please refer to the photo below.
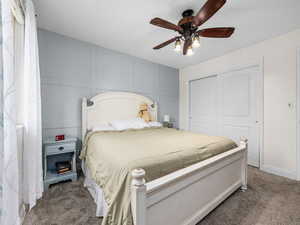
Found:
<path fill-rule="evenodd" d="M 300 52 L 300 48 L 299 48 Z M 258 60 L 255 63 L 249 63 L 244 64 L 243 66 L 233 66 L 229 69 L 222 70 L 219 72 L 213 72 L 210 74 L 206 74 L 204 76 L 199 76 L 199 78 L 191 79 L 187 82 L 188 84 L 188 130 L 191 128 L 191 82 L 197 81 L 203 78 L 213 77 L 213 76 L 219 76 L 220 74 L 239 71 L 242 69 L 247 69 L 251 67 L 259 68 L 258 73 L 258 79 L 257 79 L 257 101 L 258 101 L 258 107 L 257 107 L 257 119 L 259 121 L 258 123 L 258 137 L 259 137 L 259 168 L 263 168 L 264 165 L 264 57 L 262 57 L 260 60 Z M 299 114 L 300 115 L 300 114 Z M 300 118 L 300 117 L 299 117 Z M 300 147 L 300 146 L 299 146 Z M 300 149 L 299 149 L 300 151 Z M 299 153 L 300 154 L 300 153 Z M 300 156 L 299 156 L 299 162 L 300 162 Z M 300 166 L 299 166 L 299 176 L 300 176 Z"/>

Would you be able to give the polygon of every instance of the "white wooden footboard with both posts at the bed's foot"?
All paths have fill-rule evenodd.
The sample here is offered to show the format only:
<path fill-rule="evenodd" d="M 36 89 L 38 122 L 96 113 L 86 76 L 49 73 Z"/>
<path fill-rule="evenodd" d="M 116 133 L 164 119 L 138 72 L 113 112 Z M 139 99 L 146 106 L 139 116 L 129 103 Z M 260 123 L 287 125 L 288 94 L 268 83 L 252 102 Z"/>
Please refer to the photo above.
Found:
<path fill-rule="evenodd" d="M 235 190 L 247 189 L 247 140 L 149 183 L 143 169 L 132 171 L 132 177 L 135 225 L 195 225 Z"/>

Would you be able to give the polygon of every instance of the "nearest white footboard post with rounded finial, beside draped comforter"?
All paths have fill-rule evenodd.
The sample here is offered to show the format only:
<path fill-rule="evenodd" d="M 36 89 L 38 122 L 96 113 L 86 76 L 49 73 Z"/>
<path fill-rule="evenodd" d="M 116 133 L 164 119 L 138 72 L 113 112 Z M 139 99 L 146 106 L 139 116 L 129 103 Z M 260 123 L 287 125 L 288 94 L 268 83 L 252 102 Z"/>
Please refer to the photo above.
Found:
<path fill-rule="evenodd" d="M 131 172 L 131 209 L 134 225 L 146 225 L 146 181 L 145 170 L 134 169 Z"/>

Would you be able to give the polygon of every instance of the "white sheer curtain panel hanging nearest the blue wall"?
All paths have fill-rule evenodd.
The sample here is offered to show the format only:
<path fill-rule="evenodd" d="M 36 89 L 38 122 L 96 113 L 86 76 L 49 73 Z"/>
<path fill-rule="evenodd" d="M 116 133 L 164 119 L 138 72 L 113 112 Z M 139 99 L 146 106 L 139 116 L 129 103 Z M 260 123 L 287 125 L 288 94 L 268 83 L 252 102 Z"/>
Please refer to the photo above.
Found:
<path fill-rule="evenodd" d="M 43 193 L 40 68 L 35 10 L 25 6 L 24 48 L 24 201 L 30 208 Z"/>

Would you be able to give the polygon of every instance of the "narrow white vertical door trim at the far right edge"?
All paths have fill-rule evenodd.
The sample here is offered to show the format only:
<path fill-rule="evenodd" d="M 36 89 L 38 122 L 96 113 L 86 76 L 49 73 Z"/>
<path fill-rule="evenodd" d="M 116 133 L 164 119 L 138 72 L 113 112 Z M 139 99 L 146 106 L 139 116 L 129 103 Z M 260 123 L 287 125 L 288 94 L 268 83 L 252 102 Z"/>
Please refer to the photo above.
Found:
<path fill-rule="evenodd" d="M 296 149 L 296 165 L 297 165 L 297 173 L 296 179 L 300 180 L 300 47 L 297 48 L 296 51 L 296 64 L 297 64 L 297 132 L 296 132 L 296 140 L 297 140 L 297 149 Z"/>

